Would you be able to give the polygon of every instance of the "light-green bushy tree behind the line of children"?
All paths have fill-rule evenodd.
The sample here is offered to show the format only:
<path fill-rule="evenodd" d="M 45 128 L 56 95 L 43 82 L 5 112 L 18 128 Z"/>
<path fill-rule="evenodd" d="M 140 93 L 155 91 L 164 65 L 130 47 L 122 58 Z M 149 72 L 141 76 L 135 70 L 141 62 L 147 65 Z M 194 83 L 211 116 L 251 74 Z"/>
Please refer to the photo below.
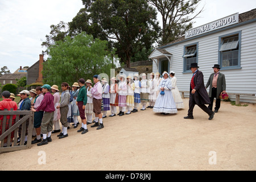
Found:
<path fill-rule="evenodd" d="M 48 48 L 49 57 L 44 63 L 43 82 L 60 85 L 73 84 L 79 78 L 92 79 L 93 75 L 110 75 L 112 57 L 106 51 L 106 41 L 93 39 L 81 32 L 71 39 L 66 36 Z M 112 53 L 113 54 L 113 53 Z"/>

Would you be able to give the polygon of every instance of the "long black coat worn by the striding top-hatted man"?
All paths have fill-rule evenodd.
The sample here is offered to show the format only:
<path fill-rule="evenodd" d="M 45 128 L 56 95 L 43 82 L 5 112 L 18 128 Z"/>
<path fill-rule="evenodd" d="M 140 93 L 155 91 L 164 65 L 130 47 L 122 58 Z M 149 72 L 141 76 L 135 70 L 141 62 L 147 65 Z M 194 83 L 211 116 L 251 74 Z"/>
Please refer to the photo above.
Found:
<path fill-rule="evenodd" d="M 192 88 L 190 86 L 190 94 L 193 96 L 193 100 L 197 105 L 200 104 L 210 104 L 210 98 L 208 96 L 207 90 L 204 86 L 204 75 L 201 71 L 197 71 L 195 77 L 193 78 L 196 92 L 192 94 Z"/>

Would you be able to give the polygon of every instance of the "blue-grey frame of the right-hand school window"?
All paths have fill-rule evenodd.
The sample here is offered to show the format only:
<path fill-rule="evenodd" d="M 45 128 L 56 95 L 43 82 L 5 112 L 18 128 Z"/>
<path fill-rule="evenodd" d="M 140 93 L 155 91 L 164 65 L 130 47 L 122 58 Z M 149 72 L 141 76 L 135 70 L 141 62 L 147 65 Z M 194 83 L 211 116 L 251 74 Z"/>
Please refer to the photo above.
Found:
<path fill-rule="evenodd" d="M 241 69 L 241 33 L 242 33 L 242 31 L 237 31 L 237 32 L 232 32 L 230 34 L 221 35 L 221 36 L 218 37 L 218 64 L 220 65 L 221 70 Z M 237 50 L 238 51 L 238 57 L 237 57 L 238 60 L 237 60 L 237 65 L 232 65 L 232 66 L 229 66 L 229 67 L 222 67 L 223 51 L 220 51 L 221 46 L 222 46 L 222 39 L 232 37 L 232 36 L 236 36 L 236 35 L 238 35 L 238 50 Z M 224 50 L 224 51 L 226 51 L 226 50 Z M 234 51 L 234 49 L 230 49 L 230 51 L 226 51 L 226 52 L 233 52 L 233 51 Z"/>

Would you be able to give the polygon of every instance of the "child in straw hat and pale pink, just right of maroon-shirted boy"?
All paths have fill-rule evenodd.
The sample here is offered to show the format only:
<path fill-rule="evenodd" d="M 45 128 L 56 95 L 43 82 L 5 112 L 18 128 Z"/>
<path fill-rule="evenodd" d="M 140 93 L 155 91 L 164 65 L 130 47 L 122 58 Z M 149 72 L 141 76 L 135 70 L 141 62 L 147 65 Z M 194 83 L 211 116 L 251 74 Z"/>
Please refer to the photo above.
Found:
<path fill-rule="evenodd" d="M 54 111 L 54 117 L 53 117 L 53 126 L 54 126 L 54 130 L 52 131 L 52 133 L 59 133 L 60 132 L 60 108 L 57 109 L 57 106 L 60 106 L 60 90 L 59 90 L 59 86 L 57 85 L 52 85 L 51 87 L 52 93 L 53 93 L 53 104 L 55 107 L 55 111 Z"/>

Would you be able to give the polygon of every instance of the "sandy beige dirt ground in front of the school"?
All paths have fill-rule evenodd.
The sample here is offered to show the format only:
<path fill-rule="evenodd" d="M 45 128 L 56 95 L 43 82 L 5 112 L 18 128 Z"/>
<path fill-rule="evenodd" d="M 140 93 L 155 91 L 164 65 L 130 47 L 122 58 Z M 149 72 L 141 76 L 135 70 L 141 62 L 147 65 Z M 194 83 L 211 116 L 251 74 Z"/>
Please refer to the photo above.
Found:
<path fill-rule="evenodd" d="M 52 134 L 47 145 L 0 154 L 0 170 L 256 169 L 255 105 L 221 102 L 209 121 L 198 106 L 193 120 L 184 119 L 188 98 L 183 101 L 185 108 L 177 114 L 161 115 L 146 109 L 107 117 L 104 129 L 88 125 L 89 132 L 84 135 L 77 133 L 81 124 L 77 129 L 71 126 L 67 138 Z"/>

